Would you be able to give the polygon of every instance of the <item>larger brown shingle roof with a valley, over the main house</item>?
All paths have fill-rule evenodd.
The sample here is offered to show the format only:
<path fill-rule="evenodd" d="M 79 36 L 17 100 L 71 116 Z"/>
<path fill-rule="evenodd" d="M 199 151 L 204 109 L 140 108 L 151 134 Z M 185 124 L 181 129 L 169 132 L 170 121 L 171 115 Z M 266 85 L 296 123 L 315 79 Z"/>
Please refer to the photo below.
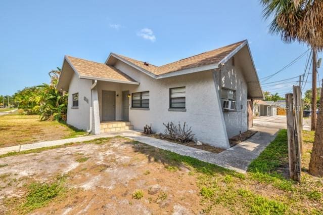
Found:
<path fill-rule="evenodd" d="M 210 64 L 219 63 L 224 57 L 233 52 L 236 48 L 243 44 L 246 40 L 236 42 L 235 44 L 231 44 L 219 49 L 215 49 L 212 51 L 204 52 L 189 58 L 184 58 L 179 61 L 175 61 L 169 64 L 165 64 L 163 66 L 154 66 L 149 64 L 148 66 L 144 64 L 143 61 L 134 60 L 132 58 L 128 58 L 122 55 L 117 56 L 123 58 L 126 61 L 131 62 L 132 64 L 139 66 L 155 75 L 166 74 L 169 72 L 175 72 L 182 69 L 190 69 L 199 66 L 205 66 Z"/>

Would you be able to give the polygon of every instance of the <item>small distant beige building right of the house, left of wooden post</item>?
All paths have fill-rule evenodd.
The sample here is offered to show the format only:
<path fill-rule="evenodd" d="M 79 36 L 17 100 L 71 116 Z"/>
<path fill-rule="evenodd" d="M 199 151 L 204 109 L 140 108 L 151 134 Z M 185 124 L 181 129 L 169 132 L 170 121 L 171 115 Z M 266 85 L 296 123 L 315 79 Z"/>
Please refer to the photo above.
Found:
<path fill-rule="evenodd" d="M 277 106 L 274 101 L 255 100 L 253 108 L 254 116 L 276 116 Z"/>

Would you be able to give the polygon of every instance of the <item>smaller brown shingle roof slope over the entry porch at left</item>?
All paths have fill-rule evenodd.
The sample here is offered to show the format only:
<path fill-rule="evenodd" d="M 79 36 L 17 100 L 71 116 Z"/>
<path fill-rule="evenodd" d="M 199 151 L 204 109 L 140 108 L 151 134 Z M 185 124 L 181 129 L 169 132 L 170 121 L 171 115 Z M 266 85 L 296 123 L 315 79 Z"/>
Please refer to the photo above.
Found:
<path fill-rule="evenodd" d="M 100 77 L 118 81 L 135 82 L 135 80 L 133 80 L 131 77 L 113 66 L 71 56 L 66 56 L 66 58 L 81 76 Z"/>

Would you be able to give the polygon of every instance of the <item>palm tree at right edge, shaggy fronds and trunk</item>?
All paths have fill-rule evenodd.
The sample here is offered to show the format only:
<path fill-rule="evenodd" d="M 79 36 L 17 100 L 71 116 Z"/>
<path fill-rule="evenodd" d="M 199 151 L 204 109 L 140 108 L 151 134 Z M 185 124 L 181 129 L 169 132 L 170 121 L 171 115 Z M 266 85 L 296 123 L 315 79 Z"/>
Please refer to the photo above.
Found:
<path fill-rule="evenodd" d="M 271 33 L 280 34 L 284 42 L 298 41 L 312 48 L 313 52 L 313 94 L 312 128 L 316 126 L 316 51 L 323 49 L 323 1 L 322 0 L 260 0 L 263 16 L 273 16 L 269 26 Z M 323 107 L 323 99 L 320 99 Z M 319 111 L 318 122 L 323 123 L 323 111 Z M 319 124 L 318 123 L 318 124 Z M 321 125 L 321 124 L 319 124 Z M 317 126 L 309 164 L 312 175 L 323 176 L 323 128 Z"/>

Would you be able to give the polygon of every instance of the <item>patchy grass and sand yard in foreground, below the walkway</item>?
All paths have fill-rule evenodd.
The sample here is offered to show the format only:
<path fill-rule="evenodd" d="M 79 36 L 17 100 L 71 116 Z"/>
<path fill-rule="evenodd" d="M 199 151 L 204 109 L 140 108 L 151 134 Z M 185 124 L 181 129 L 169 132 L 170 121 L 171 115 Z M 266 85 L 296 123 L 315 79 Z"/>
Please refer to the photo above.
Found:
<path fill-rule="evenodd" d="M 304 132 L 301 184 L 287 178 L 286 130 L 247 174 L 120 137 L 11 153 L 0 157 L 0 205 L 36 214 L 323 214 L 323 180 L 306 172 L 313 135 Z"/>

